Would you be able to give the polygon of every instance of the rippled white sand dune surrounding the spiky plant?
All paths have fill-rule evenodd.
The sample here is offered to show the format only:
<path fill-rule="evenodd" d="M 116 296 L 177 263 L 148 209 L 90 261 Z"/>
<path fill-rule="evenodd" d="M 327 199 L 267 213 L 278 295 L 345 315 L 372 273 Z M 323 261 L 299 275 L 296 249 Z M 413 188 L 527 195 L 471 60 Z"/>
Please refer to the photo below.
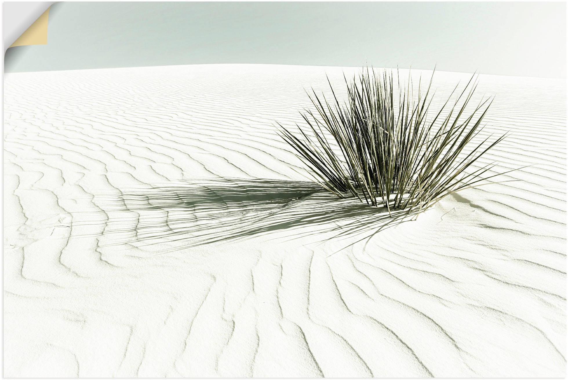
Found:
<path fill-rule="evenodd" d="M 290 168 L 324 72 L 7 74 L 4 375 L 564 377 L 565 81 L 481 75 L 534 166 L 387 224 Z"/>

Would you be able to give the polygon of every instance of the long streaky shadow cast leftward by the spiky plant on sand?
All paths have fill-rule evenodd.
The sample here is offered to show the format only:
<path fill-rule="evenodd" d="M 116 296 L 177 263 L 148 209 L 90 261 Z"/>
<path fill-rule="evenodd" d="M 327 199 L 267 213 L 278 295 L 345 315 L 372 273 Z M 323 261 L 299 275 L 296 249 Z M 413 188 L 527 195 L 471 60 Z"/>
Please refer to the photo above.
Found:
<path fill-rule="evenodd" d="M 177 242 L 176 249 L 275 231 L 287 239 L 367 238 L 407 218 L 406 212 L 389 217 L 384 208 L 340 199 L 303 181 L 206 180 L 125 191 L 119 198 L 112 202 L 118 207 L 111 208 L 118 217 L 108 221 L 114 227 L 105 232 L 116 234 L 115 244 Z M 136 215 L 135 223 L 120 211 Z"/>

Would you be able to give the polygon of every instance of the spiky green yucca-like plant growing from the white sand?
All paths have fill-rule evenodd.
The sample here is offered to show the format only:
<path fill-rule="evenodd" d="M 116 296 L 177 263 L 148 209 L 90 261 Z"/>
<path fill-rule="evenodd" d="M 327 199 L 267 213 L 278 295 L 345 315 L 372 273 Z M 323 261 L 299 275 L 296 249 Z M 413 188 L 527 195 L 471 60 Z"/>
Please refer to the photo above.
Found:
<path fill-rule="evenodd" d="M 282 137 L 307 164 L 313 180 L 339 197 L 355 196 L 389 210 L 422 212 L 454 192 L 485 184 L 495 166 L 472 170 L 473 164 L 506 137 L 474 143 L 492 99 L 481 100 L 473 112 L 466 108 L 477 82 L 471 77 L 461 94 L 431 109 L 432 78 L 417 96 L 409 74 L 400 85 L 398 102 L 392 71 L 363 69 L 347 85 L 347 100 L 308 93 L 316 112 L 300 112 L 307 124 L 296 124 L 298 136 L 281 124 Z M 432 74 L 433 77 L 433 74 Z M 328 97 L 329 98 L 329 97 Z M 432 108 L 434 108 L 432 106 Z M 471 107 L 470 107 L 471 108 Z M 304 130 L 306 129 L 306 130 Z M 503 174 L 503 173 L 502 173 Z"/>

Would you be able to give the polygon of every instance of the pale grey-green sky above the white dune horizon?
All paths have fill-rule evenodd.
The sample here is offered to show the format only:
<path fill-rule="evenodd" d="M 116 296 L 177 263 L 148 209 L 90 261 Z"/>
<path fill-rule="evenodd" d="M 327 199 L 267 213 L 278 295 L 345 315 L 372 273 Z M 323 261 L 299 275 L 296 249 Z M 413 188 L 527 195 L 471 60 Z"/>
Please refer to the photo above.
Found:
<path fill-rule="evenodd" d="M 565 2 L 60 2 L 5 71 L 188 64 L 566 77 Z"/>

